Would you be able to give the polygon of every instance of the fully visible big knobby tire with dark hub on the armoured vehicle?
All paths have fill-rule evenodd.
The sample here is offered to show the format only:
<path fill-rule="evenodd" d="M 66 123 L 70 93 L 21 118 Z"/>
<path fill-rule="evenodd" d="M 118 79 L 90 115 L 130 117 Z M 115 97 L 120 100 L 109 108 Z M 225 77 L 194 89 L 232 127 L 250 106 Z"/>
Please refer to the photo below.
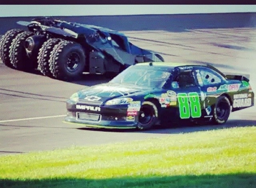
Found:
<path fill-rule="evenodd" d="M 60 41 L 50 53 L 50 72 L 59 80 L 80 78 L 85 66 L 85 53 L 82 46 L 72 41 Z"/>

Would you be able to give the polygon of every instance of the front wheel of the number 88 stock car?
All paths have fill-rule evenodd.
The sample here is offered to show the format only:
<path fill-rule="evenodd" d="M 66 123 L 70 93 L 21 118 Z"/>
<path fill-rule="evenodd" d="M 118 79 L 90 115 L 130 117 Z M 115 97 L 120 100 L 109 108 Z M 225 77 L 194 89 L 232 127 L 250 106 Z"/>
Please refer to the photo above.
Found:
<path fill-rule="evenodd" d="M 141 105 L 138 116 L 138 129 L 148 130 L 155 127 L 158 122 L 158 108 L 150 101 L 144 101 Z"/>

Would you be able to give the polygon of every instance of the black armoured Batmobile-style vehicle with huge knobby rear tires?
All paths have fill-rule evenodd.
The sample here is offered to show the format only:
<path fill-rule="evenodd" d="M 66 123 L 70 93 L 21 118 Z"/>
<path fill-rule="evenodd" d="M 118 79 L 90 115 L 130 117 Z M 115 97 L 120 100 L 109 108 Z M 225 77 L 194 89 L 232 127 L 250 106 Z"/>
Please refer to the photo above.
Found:
<path fill-rule="evenodd" d="M 14 69 L 38 69 L 51 78 L 70 80 L 83 72 L 111 76 L 137 62 L 164 61 L 112 29 L 49 17 L 17 24 L 29 31 L 12 29 L 0 39 L 0 58 Z"/>

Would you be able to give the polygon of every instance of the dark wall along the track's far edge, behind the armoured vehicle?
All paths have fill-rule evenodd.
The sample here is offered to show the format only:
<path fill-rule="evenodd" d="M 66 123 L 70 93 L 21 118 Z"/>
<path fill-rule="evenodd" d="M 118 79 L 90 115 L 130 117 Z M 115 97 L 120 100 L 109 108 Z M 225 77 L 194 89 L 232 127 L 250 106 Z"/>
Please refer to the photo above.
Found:
<path fill-rule="evenodd" d="M 0 35 L 17 25 L 19 20 L 30 21 L 34 17 L 0 17 Z M 165 30 L 185 32 L 186 29 L 216 29 L 256 27 L 256 12 L 178 14 L 178 15 L 120 15 L 120 16 L 59 16 L 60 20 L 98 25 L 118 31 Z"/>

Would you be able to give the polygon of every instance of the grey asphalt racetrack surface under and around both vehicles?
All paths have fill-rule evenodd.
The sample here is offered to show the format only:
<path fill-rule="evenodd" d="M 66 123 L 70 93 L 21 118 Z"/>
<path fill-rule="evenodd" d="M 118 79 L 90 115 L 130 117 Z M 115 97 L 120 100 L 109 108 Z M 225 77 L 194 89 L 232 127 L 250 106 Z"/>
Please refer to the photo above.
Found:
<path fill-rule="evenodd" d="M 256 92 L 256 28 L 122 31 L 130 41 L 160 53 L 165 61 L 207 62 L 224 72 L 250 74 Z M 256 106 L 231 113 L 220 126 L 187 126 L 150 131 L 84 128 L 63 123 L 65 101 L 77 90 L 107 82 L 102 75 L 84 75 L 63 82 L 10 69 L 0 62 L 0 154 L 54 150 L 71 146 L 127 142 L 177 133 L 256 125 Z"/>

